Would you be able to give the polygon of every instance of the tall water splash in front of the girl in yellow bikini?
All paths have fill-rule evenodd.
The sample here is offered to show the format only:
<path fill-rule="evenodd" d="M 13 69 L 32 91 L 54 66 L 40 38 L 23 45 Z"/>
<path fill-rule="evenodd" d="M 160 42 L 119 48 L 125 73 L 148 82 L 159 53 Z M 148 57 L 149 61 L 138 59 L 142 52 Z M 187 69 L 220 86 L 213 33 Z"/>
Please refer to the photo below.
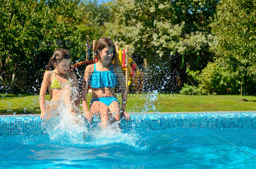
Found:
<path fill-rule="evenodd" d="M 79 108 L 74 104 L 77 95 L 76 87 L 63 85 L 58 101 L 45 101 L 46 114 L 42 125 L 51 140 L 62 144 L 76 144 L 82 140 L 86 125 Z"/>

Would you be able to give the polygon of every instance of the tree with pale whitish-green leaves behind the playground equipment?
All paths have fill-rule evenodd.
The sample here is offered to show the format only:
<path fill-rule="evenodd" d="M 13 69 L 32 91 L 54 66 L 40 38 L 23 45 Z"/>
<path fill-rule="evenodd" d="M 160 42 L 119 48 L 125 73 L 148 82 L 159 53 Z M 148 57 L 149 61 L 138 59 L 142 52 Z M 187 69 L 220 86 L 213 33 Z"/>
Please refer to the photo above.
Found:
<path fill-rule="evenodd" d="M 203 69 L 213 57 L 209 52 L 208 26 L 217 0 L 130 1 L 113 0 L 114 18 L 106 23 L 105 35 L 129 45 L 132 57 L 142 65 L 146 58 L 151 71 L 177 70 L 187 82 L 186 67 Z M 194 64 L 196 63 L 196 64 Z"/>

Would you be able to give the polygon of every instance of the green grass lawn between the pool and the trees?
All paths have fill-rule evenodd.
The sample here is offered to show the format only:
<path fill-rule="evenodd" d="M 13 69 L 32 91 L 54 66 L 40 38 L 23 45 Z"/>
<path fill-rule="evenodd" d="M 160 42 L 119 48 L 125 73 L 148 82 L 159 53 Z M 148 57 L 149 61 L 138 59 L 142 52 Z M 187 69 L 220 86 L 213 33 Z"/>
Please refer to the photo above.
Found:
<path fill-rule="evenodd" d="M 40 114 L 38 95 L 0 94 L 1 114 Z M 87 104 L 92 94 L 87 94 Z M 46 95 L 50 99 L 50 95 Z M 121 94 L 117 94 L 121 103 Z M 248 101 L 240 102 L 241 99 Z M 256 96 L 128 94 L 126 112 L 254 111 Z M 82 107 L 80 106 L 80 109 Z"/>

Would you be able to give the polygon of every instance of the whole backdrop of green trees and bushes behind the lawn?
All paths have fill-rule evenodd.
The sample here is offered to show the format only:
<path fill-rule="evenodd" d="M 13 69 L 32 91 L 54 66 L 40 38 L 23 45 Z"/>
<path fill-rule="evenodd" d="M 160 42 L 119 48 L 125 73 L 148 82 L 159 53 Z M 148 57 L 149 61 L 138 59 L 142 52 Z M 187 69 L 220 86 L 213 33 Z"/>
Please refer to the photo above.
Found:
<path fill-rule="evenodd" d="M 239 94 L 241 85 L 242 93 L 255 94 L 256 3 L 218 2 L 0 0 L 0 91 L 38 92 L 54 50 L 67 48 L 72 62 L 83 59 L 89 35 L 90 41 L 110 36 L 120 49 L 129 45 L 140 68 L 147 59 L 151 77 L 177 70 L 186 84 L 188 74 L 196 85 L 184 85 L 188 94 Z"/>

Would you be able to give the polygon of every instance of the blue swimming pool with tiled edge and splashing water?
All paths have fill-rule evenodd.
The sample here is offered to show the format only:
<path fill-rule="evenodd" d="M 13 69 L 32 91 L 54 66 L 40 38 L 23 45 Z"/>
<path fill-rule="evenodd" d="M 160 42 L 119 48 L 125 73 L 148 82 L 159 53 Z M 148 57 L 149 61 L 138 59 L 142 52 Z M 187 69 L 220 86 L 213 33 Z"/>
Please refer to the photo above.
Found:
<path fill-rule="evenodd" d="M 131 117 L 131 121 L 121 122 L 119 134 L 99 130 L 96 125 L 100 120 L 95 118 L 88 126 L 88 140 L 84 140 L 80 133 L 52 139 L 51 135 L 43 134 L 41 120 L 36 115 L 0 116 L 0 166 L 256 167 L 256 112 L 132 114 Z"/>

